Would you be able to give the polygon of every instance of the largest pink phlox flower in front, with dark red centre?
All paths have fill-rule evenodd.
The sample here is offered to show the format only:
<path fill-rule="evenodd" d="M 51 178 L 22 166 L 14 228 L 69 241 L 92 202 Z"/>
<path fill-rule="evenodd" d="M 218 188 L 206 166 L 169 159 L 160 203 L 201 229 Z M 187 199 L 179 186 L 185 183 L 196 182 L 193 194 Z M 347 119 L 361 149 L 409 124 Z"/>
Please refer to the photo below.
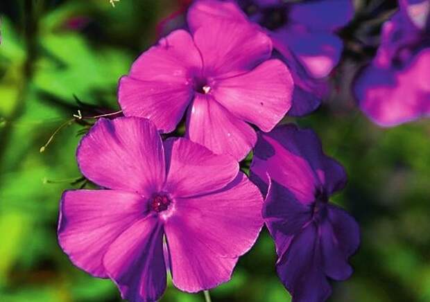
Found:
<path fill-rule="evenodd" d="M 111 278 L 123 299 L 157 301 L 166 265 L 187 292 L 228 281 L 263 225 L 261 194 L 234 158 L 188 139 L 162 142 L 144 118 L 101 118 L 77 158 L 102 189 L 62 195 L 58 240 L 77 267 Z"/>

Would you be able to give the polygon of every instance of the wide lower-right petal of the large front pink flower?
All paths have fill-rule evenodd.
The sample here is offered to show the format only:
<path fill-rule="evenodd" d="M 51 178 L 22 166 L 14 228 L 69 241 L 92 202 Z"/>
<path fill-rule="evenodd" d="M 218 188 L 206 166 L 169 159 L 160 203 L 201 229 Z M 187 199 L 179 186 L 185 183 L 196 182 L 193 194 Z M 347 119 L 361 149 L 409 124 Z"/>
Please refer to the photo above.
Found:
<path fill-rule="evenodd" d="M 263 198 L 257 186 L 242 172 L 228 186 L 216 193 L 180 198 L 175 211 L 173 228 L 195 233 L 218 256 L 236 258 L 254 244 L 263 226 Z M 181 221 L 181 222 L 180 222 Z"/>

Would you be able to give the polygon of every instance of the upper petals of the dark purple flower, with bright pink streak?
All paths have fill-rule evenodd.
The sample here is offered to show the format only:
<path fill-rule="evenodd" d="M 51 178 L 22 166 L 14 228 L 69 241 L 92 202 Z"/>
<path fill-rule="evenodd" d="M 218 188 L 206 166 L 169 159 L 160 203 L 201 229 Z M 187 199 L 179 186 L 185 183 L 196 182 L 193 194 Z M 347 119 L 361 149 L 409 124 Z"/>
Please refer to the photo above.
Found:
<path fill-rule="evenodd" d="M 292 124 L 259 135 L 251 170 L 262 180 L 268 173 L 304 203 L 313 202 L 321 185 L 331 195 L 346 183 L 345 170 L 322 152 L 318 136 Z"/>

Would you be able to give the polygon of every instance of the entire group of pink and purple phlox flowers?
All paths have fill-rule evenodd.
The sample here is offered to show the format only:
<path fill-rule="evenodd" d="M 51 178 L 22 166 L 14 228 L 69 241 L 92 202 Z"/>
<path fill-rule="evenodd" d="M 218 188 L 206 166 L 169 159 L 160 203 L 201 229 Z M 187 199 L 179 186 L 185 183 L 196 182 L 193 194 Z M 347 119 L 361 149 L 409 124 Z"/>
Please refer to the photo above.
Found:
<path fill-rule="evenodd" d="M 429 1 L 400 1 L 377 56 L 355 81 L 381 125 L 430 114 Z M 350 0 L 197 0 L 187 26 L 142 53 L 119 81 L 122 117 L 100 118 L 78 166 L 99 190 L 67 190 L 58 238 L 72 263 L 123 299 L 230 280 L 266 225 L 293 301 L 325 301 L 351 276 L 359 227 L 329 197 L 346 184 L 311 130 L 282 124 L 326 94 Z M 184 120 L 185 134 L 166 137 Z M 164 140 L 162 139 L 162 136 Z M 252 150 L 250 178 L 239 161 Z"/>

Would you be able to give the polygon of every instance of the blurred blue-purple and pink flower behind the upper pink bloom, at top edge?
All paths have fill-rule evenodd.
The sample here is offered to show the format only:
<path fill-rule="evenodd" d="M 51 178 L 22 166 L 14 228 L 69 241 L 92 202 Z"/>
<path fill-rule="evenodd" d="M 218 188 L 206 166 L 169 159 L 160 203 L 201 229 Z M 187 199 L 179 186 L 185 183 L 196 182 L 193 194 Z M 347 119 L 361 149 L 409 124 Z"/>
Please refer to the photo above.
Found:
<path fill-rule="evenodd" d="M 315 110 L 329 91 L 325 77 L 343 50 L 334 32 L 352 19 L 353 12 L 351 0 L 197 0 L 189 8 L 188 23 L 191 31 L 220 17 L 259 24 L 293 75 L 289 115 L 303 116 Z"/>

